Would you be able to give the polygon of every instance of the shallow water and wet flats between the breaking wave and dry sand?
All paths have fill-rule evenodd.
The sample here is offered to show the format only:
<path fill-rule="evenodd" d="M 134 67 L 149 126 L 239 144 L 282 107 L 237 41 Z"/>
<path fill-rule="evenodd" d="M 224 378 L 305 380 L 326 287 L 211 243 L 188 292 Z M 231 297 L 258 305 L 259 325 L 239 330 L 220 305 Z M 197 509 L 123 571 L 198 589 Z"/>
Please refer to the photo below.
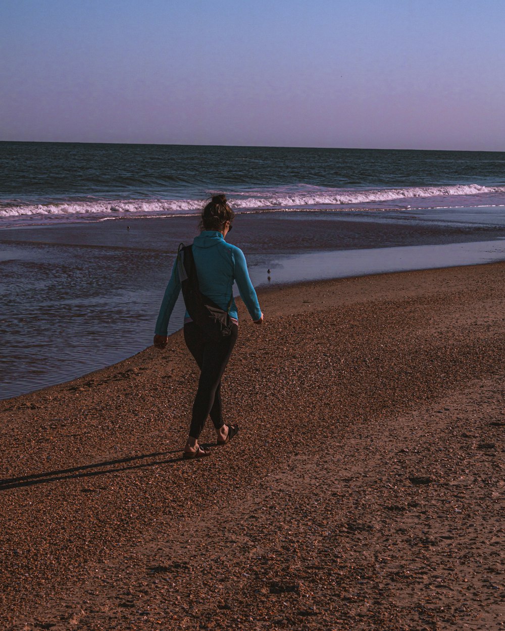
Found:
<path fill-rule="evenodd" d="M 501 218 L 478 211 L 481 223 L 442 211 L 241 214 L 230 240 L 255 286 L 504 259 Z M 196 233 L 197 216 L 0 230 L 0 399 L 148 346 L 177 247 Z"/>

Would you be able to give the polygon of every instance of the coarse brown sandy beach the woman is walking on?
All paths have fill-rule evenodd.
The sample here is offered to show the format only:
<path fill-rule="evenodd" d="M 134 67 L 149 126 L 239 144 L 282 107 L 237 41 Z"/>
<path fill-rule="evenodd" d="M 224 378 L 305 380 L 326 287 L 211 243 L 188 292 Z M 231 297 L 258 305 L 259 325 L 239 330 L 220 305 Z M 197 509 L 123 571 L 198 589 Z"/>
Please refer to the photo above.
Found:
<path fill-rule="evenodd" d="M 505 264 L 259 298 L 205 461 L 180 332 L 0 401 L 0 628 L 505 627 Z"/>

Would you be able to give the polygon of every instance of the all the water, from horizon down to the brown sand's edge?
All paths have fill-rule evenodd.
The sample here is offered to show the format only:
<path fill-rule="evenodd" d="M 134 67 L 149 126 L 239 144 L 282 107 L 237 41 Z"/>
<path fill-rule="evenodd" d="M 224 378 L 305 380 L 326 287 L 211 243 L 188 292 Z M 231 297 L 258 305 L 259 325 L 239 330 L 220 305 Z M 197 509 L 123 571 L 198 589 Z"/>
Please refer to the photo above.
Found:
<path fill-rule="evenodd" d="M 0 143 L 0 398 L 150 345 L 216 192 L 256 286 L 505 259 L 505 153 Z"/>

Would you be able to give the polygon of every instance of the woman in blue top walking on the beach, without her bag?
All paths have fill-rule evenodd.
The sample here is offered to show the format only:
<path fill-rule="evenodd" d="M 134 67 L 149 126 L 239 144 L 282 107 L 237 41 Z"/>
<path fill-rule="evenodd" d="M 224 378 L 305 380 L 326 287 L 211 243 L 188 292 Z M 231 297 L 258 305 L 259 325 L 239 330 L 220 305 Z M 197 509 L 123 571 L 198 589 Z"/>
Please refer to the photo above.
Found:
<path fill-rule="evenodd" d="M 213 341 L 196 326 L 186 311 L 184 341 L 198 363 L 201 374 L 193 403 L 189 437 L 182 454 L 185 459 L 210 455 L 208 449 L 203 449 L 198 444 L 207 416 L 210 415 L 214 423 L 218 445 L 227 444 L 239 431 L 238 425 L 227 424 L 223 421 L 221 401 L 221 377 L 239 332 L 237 305 L 232 293 L 234 281 L 237 281 L 241 298 L 253 321 L 256 324 L 263 322 L 258 297 L 247 272 L 246 258 L 238 247 L 225 242 L 227 233 L 232 229 L 234 216 L 234 211 L 227 204 L 224 195 L 213 196 L 212 201 L 201 213 L 201 233 L 193 240 L 193 257 L 199 289 L 223 310 L 229 310 L 232 333 L 230 336 Z M 165 348 L 167 345 L 169 319 L 180 291 L 181 281 L 177 272 L 177 261 L 175 261 L 156 322 L 154 344 L 157 348 Z"/>

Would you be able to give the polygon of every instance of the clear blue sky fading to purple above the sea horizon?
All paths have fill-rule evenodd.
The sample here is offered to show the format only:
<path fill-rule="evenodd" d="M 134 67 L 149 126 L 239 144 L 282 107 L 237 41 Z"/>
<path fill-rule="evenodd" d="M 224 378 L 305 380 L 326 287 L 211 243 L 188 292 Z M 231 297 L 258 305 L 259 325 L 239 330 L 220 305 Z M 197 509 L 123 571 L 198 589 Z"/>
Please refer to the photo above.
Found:
<path fill-rule="evenodd" d="M 505 151 L 505 0 L 0 0 L 0 140 Z"/>

